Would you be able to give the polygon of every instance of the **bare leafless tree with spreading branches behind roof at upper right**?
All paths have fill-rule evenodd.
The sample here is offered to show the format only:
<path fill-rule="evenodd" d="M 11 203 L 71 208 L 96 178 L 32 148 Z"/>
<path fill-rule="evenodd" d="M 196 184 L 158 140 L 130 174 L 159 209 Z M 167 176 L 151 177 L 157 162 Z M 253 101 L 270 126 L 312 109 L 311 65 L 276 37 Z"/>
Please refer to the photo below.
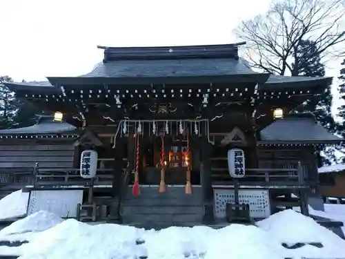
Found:
<path fill-rule="evenodd" d="M 344 54 L 344 47 L 335 48 L 345 42 L 344 3 L 345 0 L 277 1 L 266 14 L 243 21 L 235 33 L 247 41 L 246 57 L 253 68 L 298 75 L 299 57 L 295 53 L 303 41 L 314 41 L 323 61 L 330 54 Z"/>

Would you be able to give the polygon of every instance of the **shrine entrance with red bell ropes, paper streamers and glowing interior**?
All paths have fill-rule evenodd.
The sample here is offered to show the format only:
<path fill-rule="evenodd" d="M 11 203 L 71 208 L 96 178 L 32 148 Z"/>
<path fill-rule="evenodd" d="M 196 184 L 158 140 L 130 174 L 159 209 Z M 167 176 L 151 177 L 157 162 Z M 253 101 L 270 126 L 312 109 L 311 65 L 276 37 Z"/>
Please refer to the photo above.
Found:
<path fill-rule="evenodd" d="M 124 120 L 118 137 L 127 139 L 133 160 L 130 184 L 200 185 L 200 148 L 206 120 Z M 200 128 L 204 127 L 202 131 Z M 132 143 L 132 145 L 130 145 Z M 132 154 L 132 155 L 130 155 Z"/>

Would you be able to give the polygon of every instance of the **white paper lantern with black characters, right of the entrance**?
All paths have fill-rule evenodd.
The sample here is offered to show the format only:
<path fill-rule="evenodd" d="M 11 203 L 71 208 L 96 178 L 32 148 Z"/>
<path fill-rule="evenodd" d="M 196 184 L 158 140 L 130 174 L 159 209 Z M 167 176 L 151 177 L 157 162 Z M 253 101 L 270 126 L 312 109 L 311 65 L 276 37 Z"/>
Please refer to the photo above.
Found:
<path fill-rule="evenodd" d="M 233 148 L 228 151 L 228 168 L 232 178 L 243 178 L 246 175 L 244 151 Z"/>

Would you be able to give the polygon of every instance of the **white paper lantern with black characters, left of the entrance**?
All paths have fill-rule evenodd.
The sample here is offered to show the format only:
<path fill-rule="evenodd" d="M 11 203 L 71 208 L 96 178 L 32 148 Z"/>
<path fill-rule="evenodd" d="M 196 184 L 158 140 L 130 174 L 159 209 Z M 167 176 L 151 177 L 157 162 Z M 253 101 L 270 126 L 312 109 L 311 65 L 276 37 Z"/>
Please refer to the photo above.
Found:
<path fill-rule="evenodd" d="M 80 157 L 80 175 L 82 178 L 90 179 L 96 176 L 98 154 L 94 150 L 86 150 Z"/>

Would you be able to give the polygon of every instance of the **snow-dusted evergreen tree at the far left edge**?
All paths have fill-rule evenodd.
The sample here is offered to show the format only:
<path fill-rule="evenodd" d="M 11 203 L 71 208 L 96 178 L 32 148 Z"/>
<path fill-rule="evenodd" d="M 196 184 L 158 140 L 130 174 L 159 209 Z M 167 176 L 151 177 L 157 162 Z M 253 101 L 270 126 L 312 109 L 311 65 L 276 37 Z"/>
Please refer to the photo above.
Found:
<path fill-rule="evenodd" d="M 5 86 L 12 81 L 8 76 L 0 76 L 0 129 L 11 128 L 14 125 L 14 115 L 17 111 L 14 94 Z"/>

